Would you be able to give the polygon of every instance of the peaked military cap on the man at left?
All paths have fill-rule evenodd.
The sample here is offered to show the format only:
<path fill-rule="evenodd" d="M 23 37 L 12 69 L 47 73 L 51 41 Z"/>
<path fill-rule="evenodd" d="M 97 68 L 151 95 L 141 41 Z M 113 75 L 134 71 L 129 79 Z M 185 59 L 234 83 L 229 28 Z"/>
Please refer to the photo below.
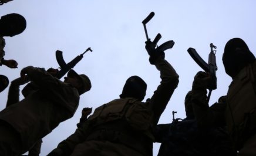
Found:
<path fill-rule="evenodd" d="M 86 91 L 90 90 L 92 87 L 92 84 L 90 83 L 89 77 L 87 77 L 85 74 L 78 74 L 75 72 L 75 70 L 71 69 L 68 72 L 68 76 L 76 76 L 79 77 L 79 79 L 82 82 L 82 87 L 78 89 L 79 95 L 85 93 Z"/>

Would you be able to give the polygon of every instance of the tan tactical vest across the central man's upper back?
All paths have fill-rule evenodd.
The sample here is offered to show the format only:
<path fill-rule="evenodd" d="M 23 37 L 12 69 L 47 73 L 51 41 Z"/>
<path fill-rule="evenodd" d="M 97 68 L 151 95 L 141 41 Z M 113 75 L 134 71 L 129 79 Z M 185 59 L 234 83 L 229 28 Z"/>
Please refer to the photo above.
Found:
<path fill-rule="evenodd" d="M 97 107 L 87 121 L 92 123 L 92 126 L 116 120 L 127 121 L 133 130 L 143 131 L 148 137 L 153 138 L 148 131 L 151 127 L 153 112 L 147 104 L 133 98 L 116 99 Z"/>

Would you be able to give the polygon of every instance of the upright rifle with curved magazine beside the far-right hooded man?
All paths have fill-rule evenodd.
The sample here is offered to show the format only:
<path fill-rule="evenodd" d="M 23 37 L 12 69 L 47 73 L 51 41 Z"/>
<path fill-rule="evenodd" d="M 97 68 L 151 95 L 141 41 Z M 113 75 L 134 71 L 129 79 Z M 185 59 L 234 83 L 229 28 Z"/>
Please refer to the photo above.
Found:
<path fill-rule="evenodd" d="M 217 89 L 217 77 L 216 77 L 216 70 L 217 70 L 217 65 L 216 65 L 216 46 L 213 45 L 213 43 L 210 43 L 210 48 L 211 52 L 208 55 L 208 64 L 198 55 L 196 49 L 194 48 L 188 48 L 187 52 L 190 54 L 190 56 L 194 59 L 194 61 L 199 65 L 205 72 L 210 73 L 211 77 L 211 83 L 209 86 L 209 93 L 207 97 L 207 103 L 210 100 L 211 97 L 211 91 Z"/>

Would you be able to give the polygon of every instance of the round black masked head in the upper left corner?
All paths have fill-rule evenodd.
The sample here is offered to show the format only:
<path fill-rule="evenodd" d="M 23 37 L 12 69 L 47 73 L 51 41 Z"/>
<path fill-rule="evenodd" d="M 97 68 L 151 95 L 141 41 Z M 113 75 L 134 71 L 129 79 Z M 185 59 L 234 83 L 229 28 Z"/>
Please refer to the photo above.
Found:
<path fill-rule="evenodd" d="M 18 13 L 4 15 L 0 19 L 0 36 L 15 36 L 26 29 L 26 19 Z"/>

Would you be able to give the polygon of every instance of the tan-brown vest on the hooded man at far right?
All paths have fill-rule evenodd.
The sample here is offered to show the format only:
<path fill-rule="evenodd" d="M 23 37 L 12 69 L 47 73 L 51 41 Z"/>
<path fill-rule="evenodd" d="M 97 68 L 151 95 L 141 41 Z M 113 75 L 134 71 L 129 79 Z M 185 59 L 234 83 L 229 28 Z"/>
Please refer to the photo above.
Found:
<path fill-rule="evenodd" d="M 227 93 L 226 121 L 237 150 L 256 132 L 256 62 L 244 67 L 230 84 Z"/>

